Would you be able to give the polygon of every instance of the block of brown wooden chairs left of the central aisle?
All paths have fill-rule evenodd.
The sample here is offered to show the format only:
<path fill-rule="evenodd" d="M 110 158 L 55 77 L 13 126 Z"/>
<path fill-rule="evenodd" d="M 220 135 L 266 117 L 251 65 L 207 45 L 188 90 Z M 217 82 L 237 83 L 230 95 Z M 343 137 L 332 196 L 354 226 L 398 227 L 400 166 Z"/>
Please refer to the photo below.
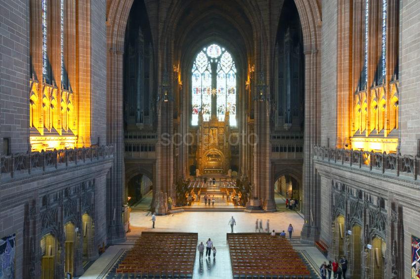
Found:
<path fill-rule="evenodd" d="M 143 232 L 116 269 L 117 278 L 192 278 L 197 234 Z"/>

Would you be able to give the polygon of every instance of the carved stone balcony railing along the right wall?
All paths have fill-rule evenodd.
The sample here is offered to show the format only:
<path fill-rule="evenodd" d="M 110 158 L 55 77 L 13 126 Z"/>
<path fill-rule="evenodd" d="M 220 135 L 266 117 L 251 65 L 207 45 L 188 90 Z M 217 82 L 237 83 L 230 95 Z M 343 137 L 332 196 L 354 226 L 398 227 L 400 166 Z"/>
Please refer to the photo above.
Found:
<path fill-rule="evenodd" d="M 370 171 L 376 170 L 381 173 L 393 173 L 397 176 L 405 175 L 414 180 L 417 180 L 419 174 L 420 158 L 411 155 L 314 146 L 314 159 L 347 164 Z"/>

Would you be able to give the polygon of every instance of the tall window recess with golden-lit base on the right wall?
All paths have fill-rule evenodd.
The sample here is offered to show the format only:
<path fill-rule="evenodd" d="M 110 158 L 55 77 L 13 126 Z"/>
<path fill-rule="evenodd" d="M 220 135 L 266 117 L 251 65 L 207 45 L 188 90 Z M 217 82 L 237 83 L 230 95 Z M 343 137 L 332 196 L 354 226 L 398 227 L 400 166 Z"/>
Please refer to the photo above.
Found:
<path fill-rule="evenodd" d="M 353 10 L 361 11 L 353 13 L 351 58 L 353 77 L 359 78 L 353 80 L 351 90 L 354 93 L 349 110 L 348 148 L 395 153 L 399 100 L 398 1 L 380 0 L 379 5 L 372 4 L 372 0 L 355 1 Z"/>

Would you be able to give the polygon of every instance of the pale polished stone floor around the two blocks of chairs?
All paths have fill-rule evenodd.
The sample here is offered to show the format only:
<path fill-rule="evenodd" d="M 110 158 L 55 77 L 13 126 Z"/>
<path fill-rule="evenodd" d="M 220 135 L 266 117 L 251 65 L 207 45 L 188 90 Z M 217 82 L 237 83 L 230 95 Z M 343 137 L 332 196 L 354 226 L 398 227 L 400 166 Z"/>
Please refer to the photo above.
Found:
<path fill-rule="evenodd" d="M 255 232 L 255 220 L 263 220 L 263 228 L 266 228 L 267 219 L 270 220 L 270 230 L 280 232 L 286 230 L 289 224 L 294 226 L 294 238 L 292 244 L 298 251 L 303 251 L 307 261 L 312 263 L 314 269 L 320 266 L 325 257 L 313 246 L 307 246 L 299 241 L 299 235 L 303 226 L 302 217 L 295 211 L 275 213 L 246 213 L 246 212 L 183 212 L 167 216 L 157 216 L 155 229 L 152 229 L 150 213 L 139 211 L 130 214 L 130 229 L 127 241 L 118 245 L 110 246 L 101 257 L 95 261 L 81 277 L 83 279 L 106 278 L 111 268 L 119 261 L 123 253 L 132 247 L 135 239 L 143 231 L 154 232 L 191 232 L 198 233 L 199 242 L 211 238 L 217 249 L 216 257 L 205 258 L 199 261 L 198 253 L 194 265 L 194 278 L 221 278 L 231 279 L 232 269 L 230 264 L 229 250 L 226 241 L 226 233 L 231 228 L 228 221 L 233 216 L 236 220 L 234 232 Z M 181 249 L 182 247 L 180 247 Z M 170 255 L 163 255 L 162 260 Z M 279 255 L 280 256 L 280 255 Z M 318 272 L 317 270 L 315 272 Z M 109 277 L 108 277 L 109 278 Z"/>

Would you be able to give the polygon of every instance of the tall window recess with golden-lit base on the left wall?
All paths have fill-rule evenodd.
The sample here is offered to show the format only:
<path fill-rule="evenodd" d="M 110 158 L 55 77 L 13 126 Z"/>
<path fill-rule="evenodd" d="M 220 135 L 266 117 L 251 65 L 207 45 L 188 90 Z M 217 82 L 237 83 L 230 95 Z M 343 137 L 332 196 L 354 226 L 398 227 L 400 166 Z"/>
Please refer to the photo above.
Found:
<path fill-rule="evenodd" d="M 82 81 L 84 96 L 72 86 L 77 84 L 75 11 L 75 2 L 67 0 L 41 0 L 41 5 L 31 8 L 29 128 L 33 152 L 90 146 L 90 90 L 86 89 L 90 80 Z M 79 47 L 90 47 L 85 40 L 82 44 Z M 81 113 L 85 117 L 80 118 Z"/>

